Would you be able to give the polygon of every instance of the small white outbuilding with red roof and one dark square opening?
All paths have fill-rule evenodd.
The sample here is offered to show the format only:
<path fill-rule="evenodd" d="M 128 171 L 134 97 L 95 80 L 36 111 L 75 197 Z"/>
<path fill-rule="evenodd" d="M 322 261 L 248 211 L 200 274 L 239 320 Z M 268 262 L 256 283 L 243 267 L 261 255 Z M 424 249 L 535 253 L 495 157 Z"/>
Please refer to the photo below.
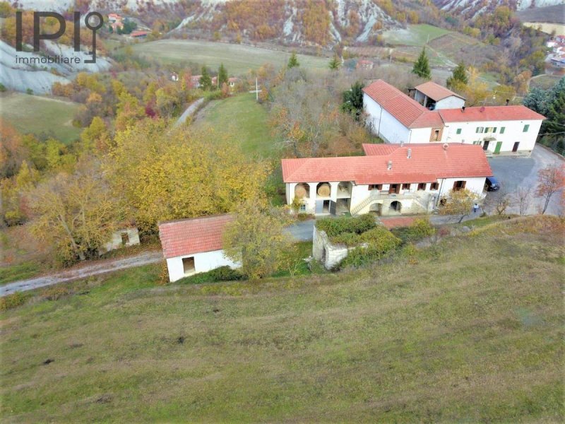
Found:
<path fill-rule="evenodd" d="M 159 238 L 167 260 L 169 281 L 220 266 L 237 268 L 222 249 L 222 233 L 233 220 L 230 215 L 174 220 L 159 224 Z"/>

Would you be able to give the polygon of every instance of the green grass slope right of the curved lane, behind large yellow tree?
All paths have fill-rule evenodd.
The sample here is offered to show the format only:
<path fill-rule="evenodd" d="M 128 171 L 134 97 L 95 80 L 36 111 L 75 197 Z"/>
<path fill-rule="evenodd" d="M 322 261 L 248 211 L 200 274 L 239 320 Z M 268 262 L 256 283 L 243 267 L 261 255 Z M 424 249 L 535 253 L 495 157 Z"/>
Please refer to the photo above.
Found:
<path fill-rule="evenodd" d="M 268 112 L 256 102 L 254 94 L 214 100 L 200 113 L 197 126 L 208 125 L 230 134 L 244 153 L 269 158 L 280 151 L 270 131 Z"/>

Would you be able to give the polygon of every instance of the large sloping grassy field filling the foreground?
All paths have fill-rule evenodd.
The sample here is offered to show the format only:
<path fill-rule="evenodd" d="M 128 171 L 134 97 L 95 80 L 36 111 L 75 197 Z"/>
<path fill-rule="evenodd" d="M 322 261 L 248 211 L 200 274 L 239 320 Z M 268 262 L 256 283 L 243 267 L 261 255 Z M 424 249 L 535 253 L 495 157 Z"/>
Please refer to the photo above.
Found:
<path fill-rule="evenodd" d="M 1 416 L 562 422 L 563 230 L 507 221 L 262 283 L 156 286 L 146 266 L 52 288 L 0 314 Z"/>

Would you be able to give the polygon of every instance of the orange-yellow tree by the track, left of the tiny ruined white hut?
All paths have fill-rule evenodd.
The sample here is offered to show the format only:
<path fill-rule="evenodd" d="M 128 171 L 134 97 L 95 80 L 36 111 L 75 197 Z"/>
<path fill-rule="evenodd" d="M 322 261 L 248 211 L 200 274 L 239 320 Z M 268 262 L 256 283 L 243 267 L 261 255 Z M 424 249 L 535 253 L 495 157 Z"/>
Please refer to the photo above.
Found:
<path fill-rule="evenodd" d="M 52 245 L 65 264 L 96 257 L 123 218 L 94 160 L 43 182 L 29 199 L 30 231 Z"/>

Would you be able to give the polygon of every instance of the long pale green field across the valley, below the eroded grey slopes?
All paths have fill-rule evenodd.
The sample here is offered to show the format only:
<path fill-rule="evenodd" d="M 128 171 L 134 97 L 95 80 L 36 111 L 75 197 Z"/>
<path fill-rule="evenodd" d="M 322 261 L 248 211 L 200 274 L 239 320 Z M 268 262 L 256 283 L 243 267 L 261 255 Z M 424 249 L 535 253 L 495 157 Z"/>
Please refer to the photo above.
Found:
<path fill-rule="evenodd" d="M 223 63 L 231 75 L 240 75 L 249 69 L 258 69 L 266 63 L 277 67 L 284 66 L 290 58 L 288 52 L 201 40 L 143 42 L 134 45 L 133 51 L 163 63 L 194 62 L 213 69 L 218 69 Z M 298 54 L 300 66 L 307 69 L 327 69 L 329 60 L 326 57 Z"/>

